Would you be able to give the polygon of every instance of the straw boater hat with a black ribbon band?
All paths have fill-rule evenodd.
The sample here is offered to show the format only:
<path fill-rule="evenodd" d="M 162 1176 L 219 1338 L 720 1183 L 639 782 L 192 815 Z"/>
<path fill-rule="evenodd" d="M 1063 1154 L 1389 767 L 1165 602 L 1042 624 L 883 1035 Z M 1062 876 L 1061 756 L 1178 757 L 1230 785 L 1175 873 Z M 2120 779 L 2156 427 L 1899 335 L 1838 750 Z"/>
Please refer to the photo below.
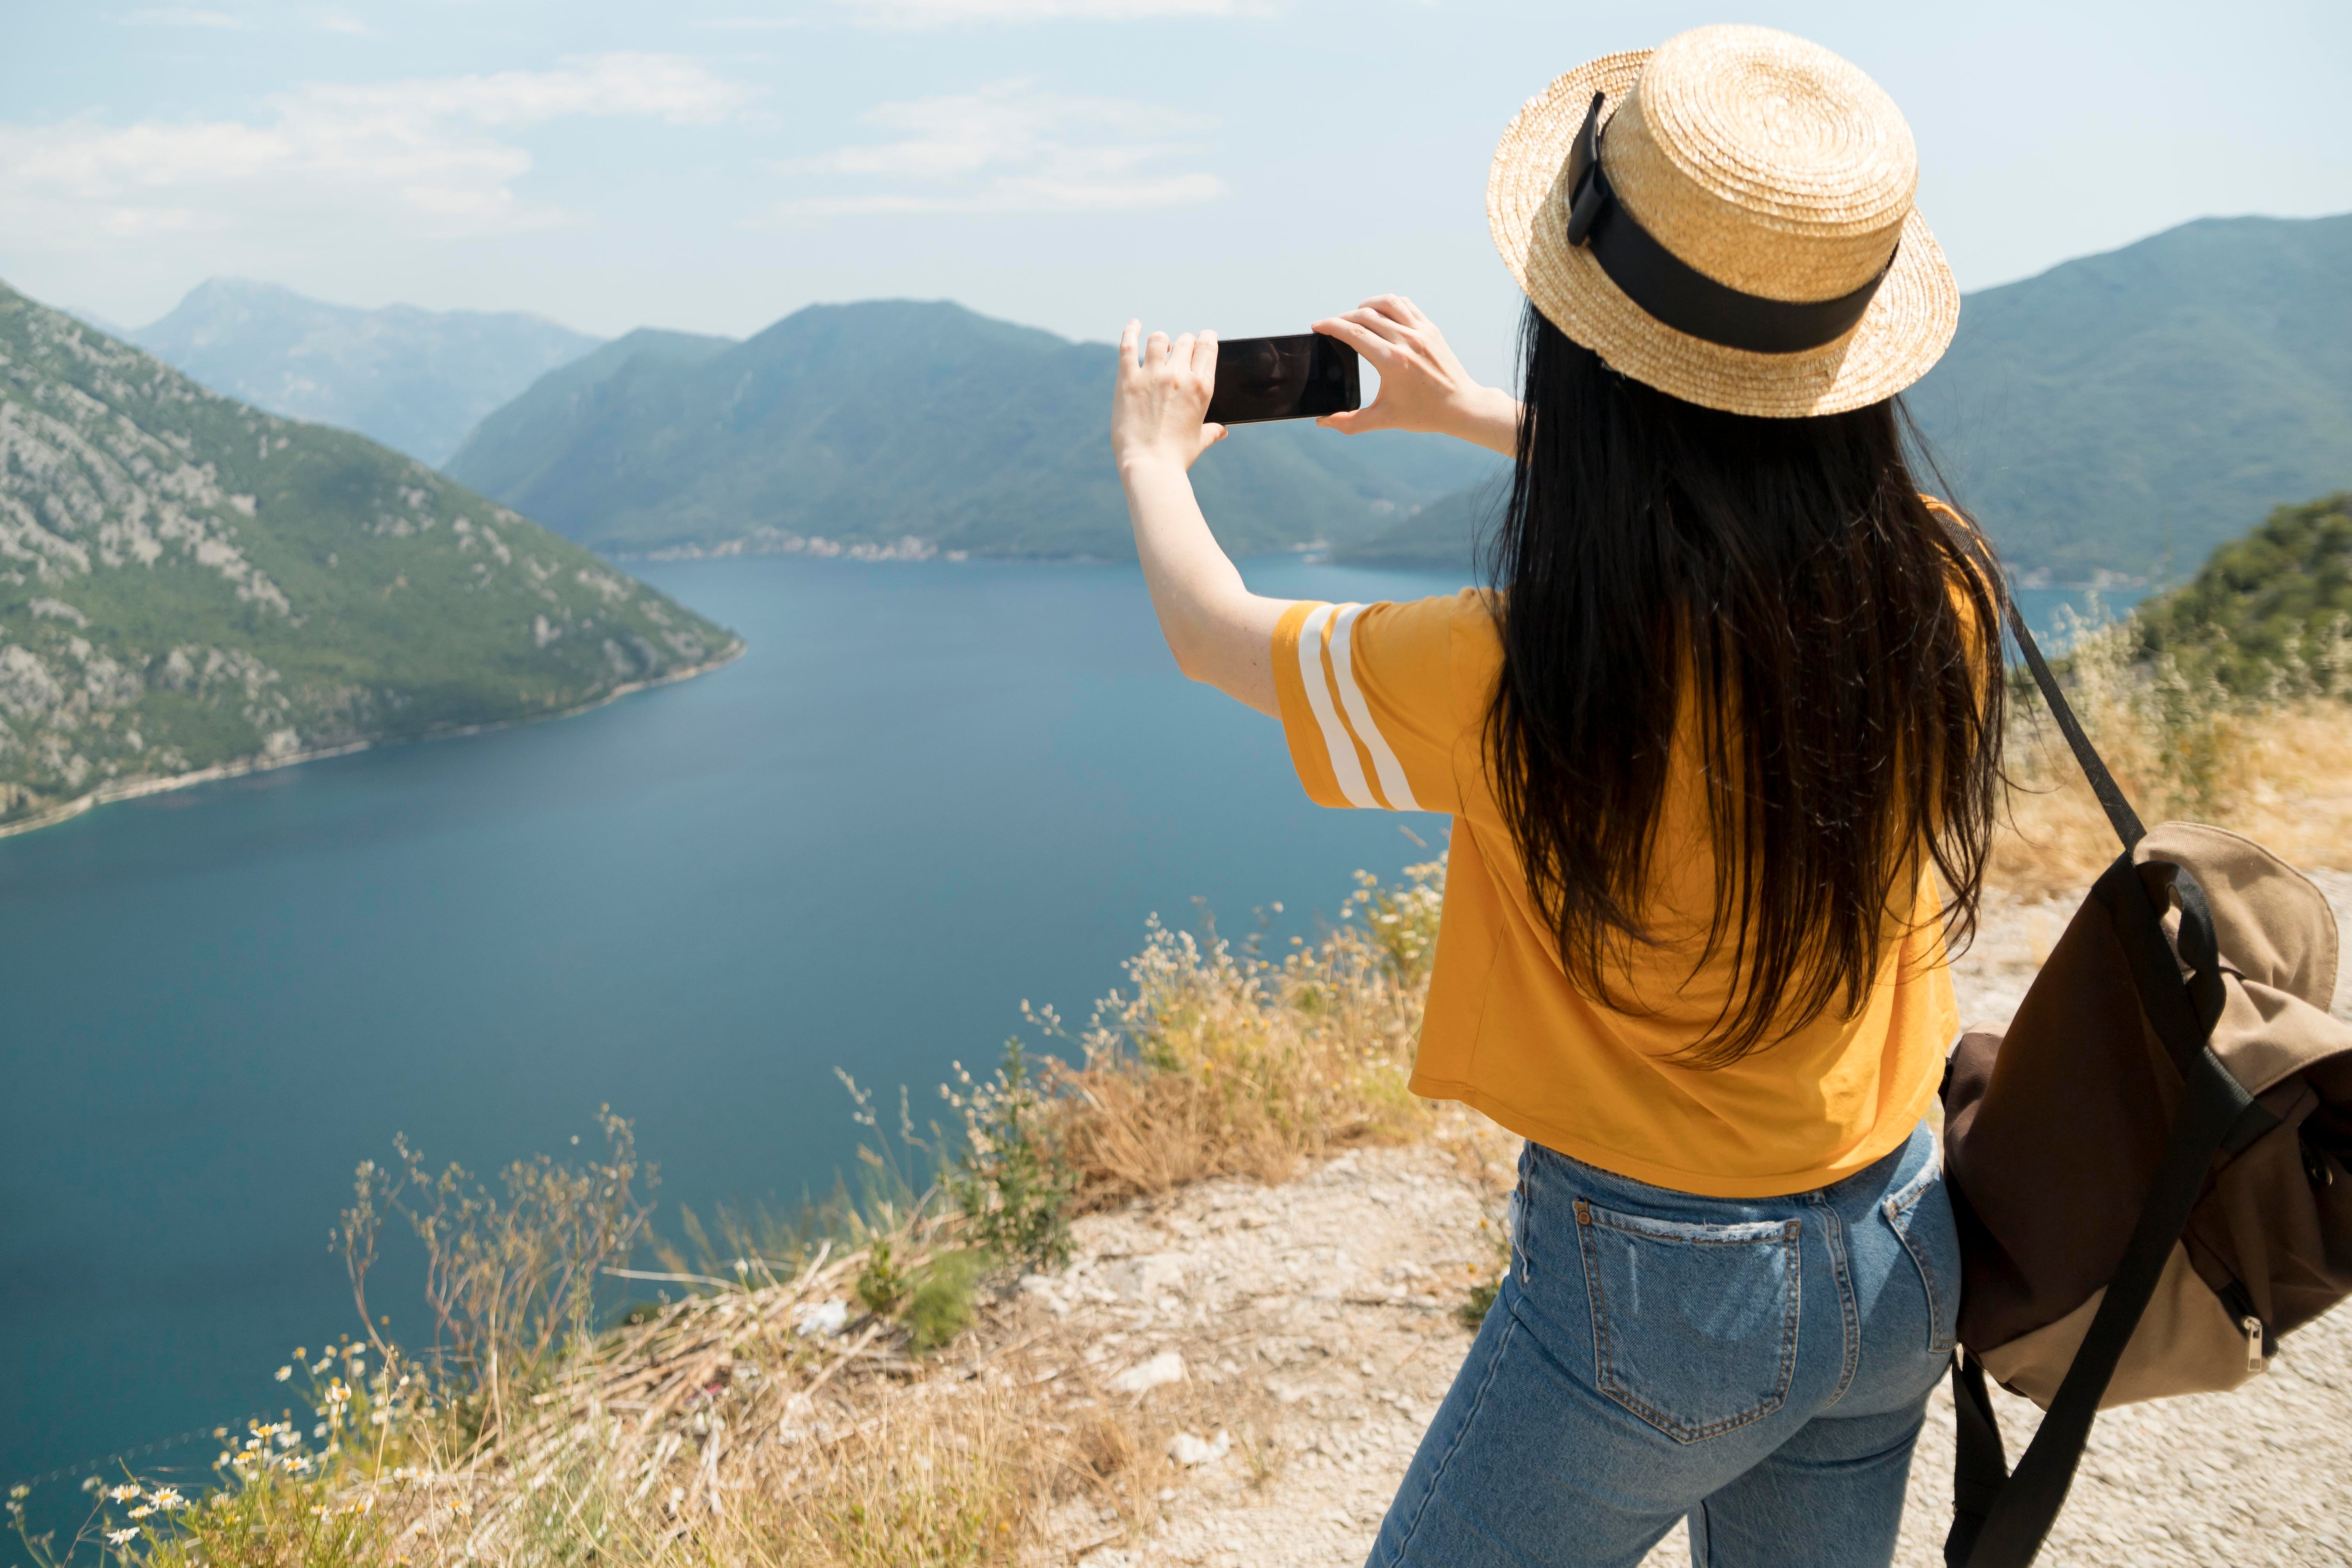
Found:
<path fill-rule="evenodd" d="M 1795 418 L 1891 397 L 1952 341 L 1959 284 L 1917 183 L 1877 82 L 1802 38 L 1717 26 L 1529 99 L 1494 150 L 1486 223 L 1536 308 L 1613 369 Z"/>

